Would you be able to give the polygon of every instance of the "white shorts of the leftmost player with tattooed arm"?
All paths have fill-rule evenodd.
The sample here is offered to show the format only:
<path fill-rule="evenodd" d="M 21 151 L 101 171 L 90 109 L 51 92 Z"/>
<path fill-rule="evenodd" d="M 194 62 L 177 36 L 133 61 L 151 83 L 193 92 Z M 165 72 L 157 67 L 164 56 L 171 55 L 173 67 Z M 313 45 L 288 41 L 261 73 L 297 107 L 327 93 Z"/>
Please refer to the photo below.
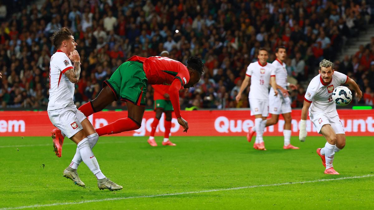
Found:
<path fill-rule="evenodd" d="M 48 111 L 49 120 L 52 124 L 61 130 L 67 138 L 71 138 L 83 129 L 80 124 L 86 116 L 77 109 L 76 105 L 67 105 L 62 109 Z"/>

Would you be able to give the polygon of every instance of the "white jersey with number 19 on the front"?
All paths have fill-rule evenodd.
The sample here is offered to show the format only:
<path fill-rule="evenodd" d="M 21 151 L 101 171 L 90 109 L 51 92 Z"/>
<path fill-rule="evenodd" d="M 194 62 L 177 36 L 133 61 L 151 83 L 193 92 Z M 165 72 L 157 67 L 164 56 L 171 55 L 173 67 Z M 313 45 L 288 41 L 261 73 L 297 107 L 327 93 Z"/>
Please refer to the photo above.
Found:
<path fill-rule="evenodd" d="M 249 64 L 245 74 L 251 77 L 251 90 L 248 98 L 269 100 L 270 77 L 275 77 L 273 65 L 266 63 L 262 66 L 260 61 L 256 61 Z"/>

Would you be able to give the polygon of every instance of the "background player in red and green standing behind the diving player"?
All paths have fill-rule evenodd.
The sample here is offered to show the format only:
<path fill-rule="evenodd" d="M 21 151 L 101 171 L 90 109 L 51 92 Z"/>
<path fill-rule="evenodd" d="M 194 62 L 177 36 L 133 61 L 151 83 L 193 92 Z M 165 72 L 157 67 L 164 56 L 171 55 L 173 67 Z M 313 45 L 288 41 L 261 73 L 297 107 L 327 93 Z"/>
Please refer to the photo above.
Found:
<path fill-rule="evenodd" d="M 162 112 L 165 113 L 164 127 L 165 134 L 162 145 L 166 146 L 175 146 L 175 143 L 172 143 L 169 140 L 170 128 L 171 128 L 171 114 L 173 112 L 173 106 L 170 101 L 169 95 L 169 86 L 162 84 L 154 84 L 153 87 L 153 101 L 154 101 L 154 111 L 156 116 L 153 118 L 151 135 L 149 136 L 148 143 L 151 146 L 157 146 L 156 141 L 154 140 L 154 132 L 156 132 L 156 127 L 159 124 Z"/>

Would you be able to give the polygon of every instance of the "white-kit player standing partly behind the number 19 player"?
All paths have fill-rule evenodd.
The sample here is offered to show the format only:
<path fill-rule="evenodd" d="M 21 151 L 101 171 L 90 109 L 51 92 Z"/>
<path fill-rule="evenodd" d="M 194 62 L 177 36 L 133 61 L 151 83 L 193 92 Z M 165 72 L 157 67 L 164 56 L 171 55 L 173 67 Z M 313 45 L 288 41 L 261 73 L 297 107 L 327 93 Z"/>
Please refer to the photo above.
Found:
<path fill-rule="evenodd" d="M 284 144 L 283 149 L 298 149 L 290 143 L 291 139 L 291 99 L 287 91 L 287 86 L 291 89 L 296 89 L 294 84 L 287 83 L 287 70 L 286 64 L 286 47 L 279 46 L 275 49 L 275 56 L 277 57 L 272 65 L 275 67 L 275 80 L 277 88 L 282 94 L 275 95 L 273 87 L 270 88 L 269 92 L 269 113 L 272 117 L 265 121 L 265 127 L 271 126 L 278 123 L 279 115 L 282 114 L 284 118 L 283 136 Z M 251 142 L 252 136 L 256 132 L 255 127 L 249 128 L 247 139 Z"/>

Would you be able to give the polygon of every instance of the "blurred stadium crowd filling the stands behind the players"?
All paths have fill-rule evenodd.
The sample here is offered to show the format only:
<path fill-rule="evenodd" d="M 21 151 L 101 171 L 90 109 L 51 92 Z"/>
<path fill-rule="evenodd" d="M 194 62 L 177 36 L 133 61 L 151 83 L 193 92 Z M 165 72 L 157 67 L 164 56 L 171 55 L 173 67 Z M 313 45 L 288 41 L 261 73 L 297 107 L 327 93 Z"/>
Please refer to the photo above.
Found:
<path fill-rule="evenodd" d="M 40 8 L 27 1 L 18 10 L 13 6 L 0 4 L 3 109 L 46 107 L 49 61 L 56 51 L 49 37 L 64 26 L 74 32 L 82 63 L 77 106 L 94 99 L 102 81 L 132 55 L 168 50 L 170 58 L 184 64 L 190 55 L 205 62 L 200 82 L 180 93 L 183 109 L 248 107 L 249 87 L 239 103 L 234 100 L 246 67 L 257 61 L 260 47 L 269 49 L 269 62 L 274 61 L 280 45 L 287 47 L 288 74 L 298 82 L 292 107 L 302 106 L 304 87 L 323 58 L 357 81 L 365 92 L 362 103 L 374 103 L 374 38 L 352 57 L 336 60 L 346 41 L 373 20 L 373 5 L 364 0 L 47 0 Z M 148 90 L 147 108 L 152 108 L 153 91 Z M 124 104 L 112 104 L 119 105 Z"/>

